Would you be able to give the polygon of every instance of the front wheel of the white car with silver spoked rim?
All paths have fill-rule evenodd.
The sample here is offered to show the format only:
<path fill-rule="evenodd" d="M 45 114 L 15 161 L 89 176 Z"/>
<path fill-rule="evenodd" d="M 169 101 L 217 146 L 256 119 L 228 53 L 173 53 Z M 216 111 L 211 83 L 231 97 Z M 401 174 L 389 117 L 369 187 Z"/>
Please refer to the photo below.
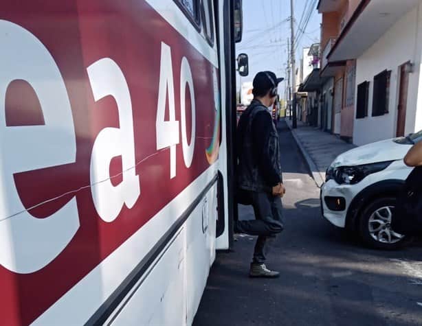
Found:
<path fill-rule="evenodd" d="M 395 198 L 379 198 L 370 202 L 360 218 L 360 235 L 364 242 L 373 248 L 394 250 L 403 247 L 408 237 L 391 229 Z"/>

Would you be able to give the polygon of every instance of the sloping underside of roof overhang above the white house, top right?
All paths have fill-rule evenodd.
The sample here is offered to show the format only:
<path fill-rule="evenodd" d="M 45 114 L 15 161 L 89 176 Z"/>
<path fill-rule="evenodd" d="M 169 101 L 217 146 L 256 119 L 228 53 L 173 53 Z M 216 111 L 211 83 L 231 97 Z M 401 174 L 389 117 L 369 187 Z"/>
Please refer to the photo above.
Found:
<path fill-rule="evenodd" d="M 359 58 L 418 3 L 419 0 L 362 0 L 327 58 L 331 62 Z"/>

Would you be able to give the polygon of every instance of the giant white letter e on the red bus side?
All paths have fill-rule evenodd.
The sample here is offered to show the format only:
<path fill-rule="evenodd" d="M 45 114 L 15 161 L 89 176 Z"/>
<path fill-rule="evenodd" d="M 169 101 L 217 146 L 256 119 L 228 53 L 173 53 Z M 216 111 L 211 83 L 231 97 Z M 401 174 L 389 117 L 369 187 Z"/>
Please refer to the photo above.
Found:
<path fill-rule="evenodd" d="M 67 246 L 79 228 L 76 199 L 47 218 L 23 206 L 14 174 L 73 163 L 74 121 L 63 78 L 45 46 L 23 27 L 0 20 L 0 265 L 17 273 L 40 270 Z M 5 95 L 24 80 L 41 104 L 45 125 L 7 126 Z"/>

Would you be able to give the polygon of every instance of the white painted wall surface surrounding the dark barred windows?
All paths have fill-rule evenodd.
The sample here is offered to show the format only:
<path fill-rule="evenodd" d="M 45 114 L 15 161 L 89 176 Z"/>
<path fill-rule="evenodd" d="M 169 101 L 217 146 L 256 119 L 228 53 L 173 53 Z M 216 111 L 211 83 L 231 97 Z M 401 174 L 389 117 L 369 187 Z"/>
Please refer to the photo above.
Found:
<path fill-rule="evenodd" d="M 408 104 L 406 113 L 406 134 L 422 128 L 422 97 L 419 95 L 419 71 L 422 49 L 422 5 L 404 15 L 384 36 L 357 58 L 356 85 L 370 82 L 368 117 L 355 119 L 353 142 L 364 145 L 395 137 L 397 130 L 397 104 L 399 95 L 399 66 L 408 60 L 415 63 L 414 73 L 409 75 Z M 419 23 L 417 23 L 419 21 Z M 389 113 L 372 117 L 374 76 L 385 69 L 391 70 Z M 357 87 L 355 89 L 357 93 Z M 356 98 L 356 94 L 355 94 Z M 355 101 L 356 103 L 356 101 Z M 356 104 L 355 104 L 356 105 Z M 417 118 L 419 122 L 415 125 Z M 355 110 L 356 111 L 356 110 Z"/>

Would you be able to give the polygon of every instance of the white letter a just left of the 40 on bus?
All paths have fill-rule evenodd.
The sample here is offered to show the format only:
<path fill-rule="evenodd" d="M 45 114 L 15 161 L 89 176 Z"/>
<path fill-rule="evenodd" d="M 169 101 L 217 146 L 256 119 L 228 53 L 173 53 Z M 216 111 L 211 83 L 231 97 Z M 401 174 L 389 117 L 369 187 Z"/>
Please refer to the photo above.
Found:
<path fill-rule="evenodd" d="M 101 59 L 87 68 L 93 97 L 114 97 L 120 128 L 104 128 L 98 134 L 91 155 L 91 191 L 97 213 L 105 222 L 113 222 L 124 204 L 130 209 L 140 196 L 140 179 L 135 174 L 135 139 L 131 94 L 124 75 L 110 58 Z M 122 178 L 119 185 L 111 183 L 110 163 L 122 157 Z"/>

